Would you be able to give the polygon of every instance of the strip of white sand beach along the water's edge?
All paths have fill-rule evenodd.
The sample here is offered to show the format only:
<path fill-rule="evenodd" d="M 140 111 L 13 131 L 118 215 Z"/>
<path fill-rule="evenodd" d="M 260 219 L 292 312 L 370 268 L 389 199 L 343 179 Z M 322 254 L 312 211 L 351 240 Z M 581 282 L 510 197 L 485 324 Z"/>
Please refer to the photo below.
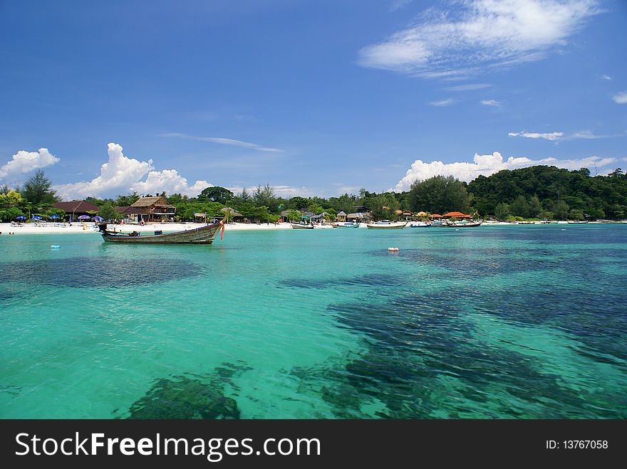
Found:
<path fill-rule="evenodd" d="M 599 221 L 589 221 L 588 223 L 568 223 L 559 221 L 558 223 L 534 223 L 535 225 L 566 225 L 566 224 L 594 224 L 594 225 L 610 225 L 624 224 L 627 221 L 615 221 L 612 223 L 603 223 Z M 504 221 L 484 221 L 484 226 L 527 226 L 532 223 L 507 223 Z M 161 230 L 164 233 L 172 231 L 192 230 L 204 226 L 204 223 L 150 223 L 144 226 L 140 225 L 110 225 L 115 227 L 116 231 L 130 233 L 131 231 L 139 231 L 140 233 L 149 233 Z M 361 226 L 361 228 L 364 228 Z M 228 223 L 226 231 L 255 231 L 255 230 L 284 230 L 291 229 L 290 223 Z M 60 234 L 60 233 L 99 233 L 98 228 L 93 223 L 73 223 L 73 226 L 63 226 L 59 223 L 48 223 L 46 226 L 37 226 L 36 223 L 24 223 L 22 226 L 11 226 L 11 223 L 0 223 L 0 233 L 2 235 L 15 234 Z"/>

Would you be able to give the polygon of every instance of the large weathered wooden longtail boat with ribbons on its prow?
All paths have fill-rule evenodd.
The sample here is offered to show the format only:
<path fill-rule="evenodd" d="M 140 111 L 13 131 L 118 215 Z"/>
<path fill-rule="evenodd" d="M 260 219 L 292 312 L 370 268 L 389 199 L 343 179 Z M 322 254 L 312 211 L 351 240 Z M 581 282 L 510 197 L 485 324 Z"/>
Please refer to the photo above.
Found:
<path fill-rule="evenodd" d="M 227 221 L 229 211 L 221 221 L 209 225 L 194 228 L 193 230 L 175 231 L 174 233 L 161 233 L 155 231 L 154 235 L 142 235 L 137 231 L 133 233 L 122 233 L 120 231 L 108 231 L 106 223 L 100 223 L 100 233 L 108 243 L 130 243 L 130 244 L 211 244 L 217 236 L 218 231 L 222 231 L 220 239 L 224 237 L 224 223 Z"/>

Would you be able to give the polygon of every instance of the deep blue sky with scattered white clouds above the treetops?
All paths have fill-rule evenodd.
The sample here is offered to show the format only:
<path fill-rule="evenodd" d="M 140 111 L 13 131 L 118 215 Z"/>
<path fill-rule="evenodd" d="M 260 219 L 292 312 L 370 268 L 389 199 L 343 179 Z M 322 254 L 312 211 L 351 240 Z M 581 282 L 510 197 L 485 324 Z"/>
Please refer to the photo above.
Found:
<path fill-rule="evenodd" d="M 627 167 L 627 2 L 0 1 L 0 183 L 66 199 Z"/>

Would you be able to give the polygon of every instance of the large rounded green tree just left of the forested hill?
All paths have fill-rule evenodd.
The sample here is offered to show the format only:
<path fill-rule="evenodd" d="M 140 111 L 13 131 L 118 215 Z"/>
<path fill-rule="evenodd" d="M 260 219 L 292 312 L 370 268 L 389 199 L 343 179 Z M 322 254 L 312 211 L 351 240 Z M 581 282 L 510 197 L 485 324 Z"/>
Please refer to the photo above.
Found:
<path fill-rule="evenodd" d="M 447 211 L 468 211 L 470 199 L 464 183 L 453 176 L 434 176 L 415 181 L 409 191 L 410 210 L 442 214 Z"/>

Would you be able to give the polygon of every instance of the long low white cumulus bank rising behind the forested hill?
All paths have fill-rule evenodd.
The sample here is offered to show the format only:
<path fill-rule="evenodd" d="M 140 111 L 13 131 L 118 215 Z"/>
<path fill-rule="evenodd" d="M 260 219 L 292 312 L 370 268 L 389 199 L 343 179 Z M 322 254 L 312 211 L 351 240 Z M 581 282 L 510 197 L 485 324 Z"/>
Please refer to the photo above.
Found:
<path fill-rule="evenodd" d="M 455 163 L 443 163 L 440 161 L 434 161 L 425 163 L 420 159 L 417 159 L 408 169 L 407 173 L 398 181 L 393 190 L 395 192 L 407 191 L 410 185 L 414 181 L 422 181 L 433 176 L 455 176 L 462 181 L 470 182 L 477 176 L 489 176 L 490 174 L 497 173 L 502 169 L 517 169 L 529 166 L 536 166 L 538 164 L 546 164 L 548 166 L 556 166 L 566 169 L 579 169 L 579 168 L 601 168 L 608 164 L 616 162 L 616 158 L 601 158 L 601 157 L 586 157 L 581 159 L 556 159 L 556 158 L 544 158 L 544 159 L 529 159 L 527 157 L 509 157 L 504 160 L 499 152 L 493 154 L 475 154 L 473 162 L 455 162 Z"/>

